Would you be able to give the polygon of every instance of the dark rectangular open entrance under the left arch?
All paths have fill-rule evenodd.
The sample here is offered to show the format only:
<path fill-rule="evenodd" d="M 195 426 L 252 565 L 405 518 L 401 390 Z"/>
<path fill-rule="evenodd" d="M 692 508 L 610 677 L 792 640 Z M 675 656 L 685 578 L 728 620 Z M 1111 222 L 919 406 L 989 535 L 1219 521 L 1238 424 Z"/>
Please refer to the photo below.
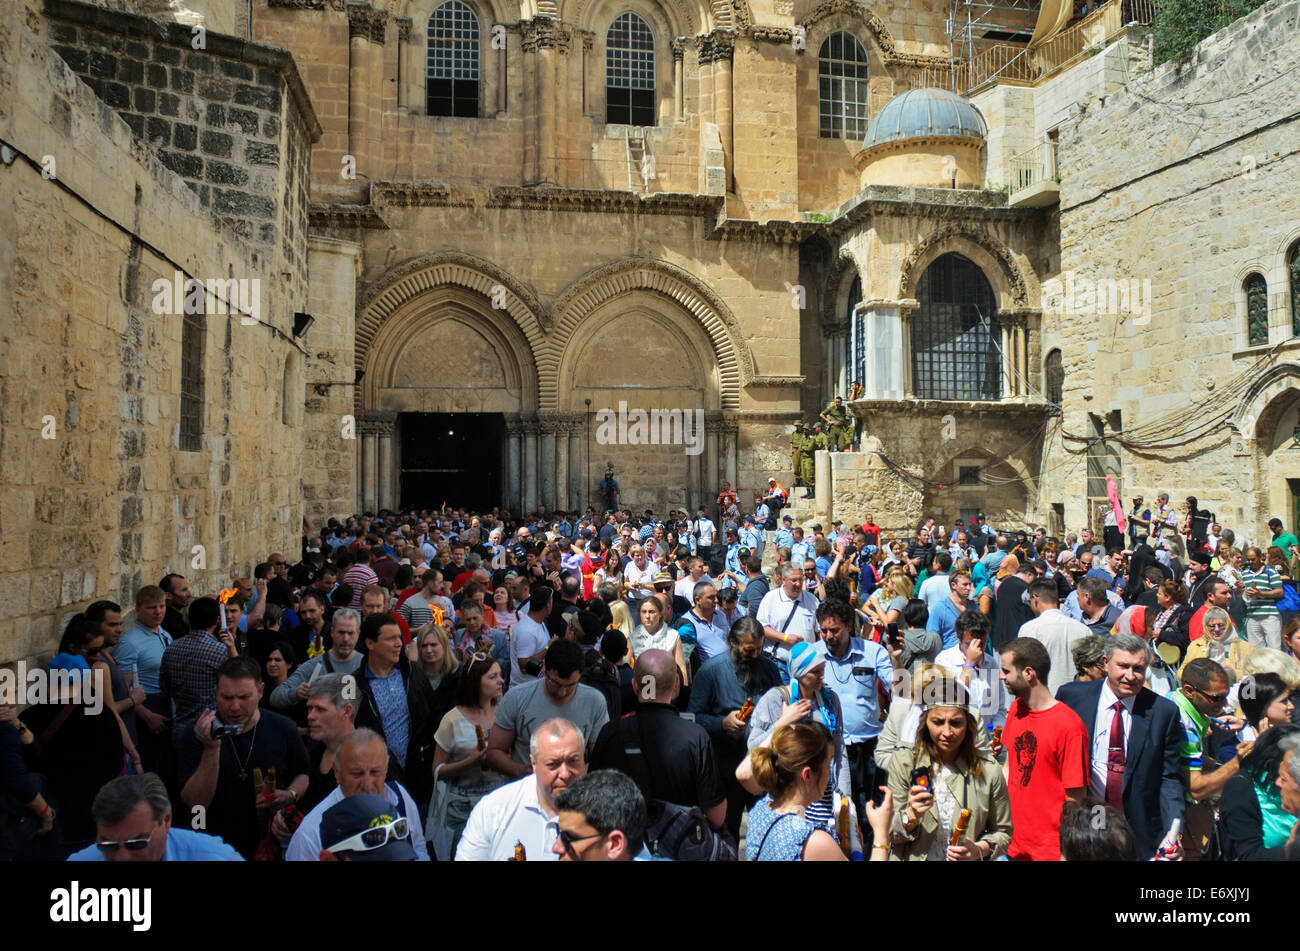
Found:
<path fill-rule="evenodd" d="M 400 413 L 403 508 L 500 505 L 506 417 Z"/>

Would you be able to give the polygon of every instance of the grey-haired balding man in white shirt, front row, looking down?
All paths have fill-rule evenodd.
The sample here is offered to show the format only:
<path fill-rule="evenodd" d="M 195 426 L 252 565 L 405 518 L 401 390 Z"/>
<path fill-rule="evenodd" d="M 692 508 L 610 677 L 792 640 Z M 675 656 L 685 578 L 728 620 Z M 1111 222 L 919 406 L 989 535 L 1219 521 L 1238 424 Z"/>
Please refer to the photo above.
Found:
<path fill-rule="evenodd" d="M 525 861 L 559 861 L 555 796 L 586 774 L 582 733 L 554 717 L 532 731 L 528 751 L 532 774 L 478 800 L 456 846 L 456 861 L 507 861 L 515 857 L 516 846 Z"/>

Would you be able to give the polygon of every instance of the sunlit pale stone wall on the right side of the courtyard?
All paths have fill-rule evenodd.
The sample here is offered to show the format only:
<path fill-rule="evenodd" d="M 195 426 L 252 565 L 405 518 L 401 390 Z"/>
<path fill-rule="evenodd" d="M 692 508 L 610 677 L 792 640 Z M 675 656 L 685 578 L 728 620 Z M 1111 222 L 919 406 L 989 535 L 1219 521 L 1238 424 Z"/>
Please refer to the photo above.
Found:
<path fill-rule="evenodd" d="M 1123 495 L 1196 495 L 1239 538 L 1265 537 L 1271 514 L 1291 525 L 1287 479 L 1300 477 L 1291 433 L 1264 431 L 1282 416 L 1268 399 L 1294 398 L 1286 364 L 1300 347 L 1286 287 L 1300 239 L 1297 23 L 1296 0 L 1266 4 L 1204 40 L 1190 64 L 1089 100 L 1061 138 L 1062 277 L 1150 288 L 1149 312 L 1119 300 L 1097 313 L 1078 295 L 1045 316 L 1043 352 L 1060 348 L 1066 369 L 1065 430 L 1088 437 L 1093 420 L 1108 431 L 1118 422 L 1154 446 L 1121 451 Z M 1251 272 L 1268 278 L 1273 349 L 1245 339 Z M 1271 378 L 1291 385 L 1262 399 Z M 1182 418 L 1228 412 L 1201 433 Z M 1158 448 L 1161 438 L 1186 444 Z M 1087 518 L 1082 448 L 1056 438 L 1044 460 L 1041 501 L 1062 503 L 1074 527 Z"/>

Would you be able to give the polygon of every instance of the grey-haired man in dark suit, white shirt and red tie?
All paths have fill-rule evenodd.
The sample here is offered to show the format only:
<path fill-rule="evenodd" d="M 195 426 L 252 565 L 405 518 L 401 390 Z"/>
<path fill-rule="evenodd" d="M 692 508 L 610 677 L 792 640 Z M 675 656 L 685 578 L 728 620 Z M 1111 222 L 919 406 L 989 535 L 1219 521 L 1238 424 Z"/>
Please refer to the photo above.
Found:
<path fill-rule="evenodd" d="M 1141 859 L 1156 854 L 1184 804 L 1182 722 L 1173 702 L 1143 690 L 1148 651 L 1141 638 L 1117 634 L 1106 643 L 1105 679 L 1057 691 L 1091 737 L 1089 794 L 1124 813 Z"/>

